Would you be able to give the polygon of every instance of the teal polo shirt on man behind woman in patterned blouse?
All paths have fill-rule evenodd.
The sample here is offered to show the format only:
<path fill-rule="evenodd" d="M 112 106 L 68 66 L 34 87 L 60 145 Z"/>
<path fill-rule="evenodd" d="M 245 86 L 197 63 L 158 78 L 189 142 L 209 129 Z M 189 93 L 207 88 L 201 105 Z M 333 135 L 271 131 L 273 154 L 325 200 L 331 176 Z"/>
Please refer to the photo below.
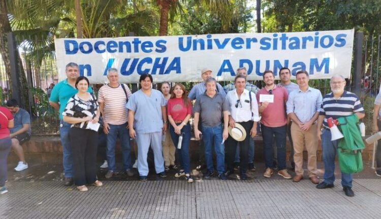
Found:
<path fill-rule="evenodd" d="M 92 93 L 92 89 L 89 86 L 89 93 Z M 59 103 L 59 119 L 62 119 L 62 112 L 66 107 L 70 97 L 74 96 L 78 92 L 77 89 L 68 84 L 68 79 L 65 79 L 53 87 L 53 90 L 50 94 L 49 101 Z"/>

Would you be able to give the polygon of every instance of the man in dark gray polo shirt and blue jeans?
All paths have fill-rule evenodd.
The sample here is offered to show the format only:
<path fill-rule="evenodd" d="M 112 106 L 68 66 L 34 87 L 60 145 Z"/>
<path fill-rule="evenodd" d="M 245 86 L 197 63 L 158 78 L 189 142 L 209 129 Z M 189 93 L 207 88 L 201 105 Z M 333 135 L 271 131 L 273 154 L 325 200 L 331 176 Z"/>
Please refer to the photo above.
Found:
<path fill-rule="evenodd" d="M 229 104 L 228 101 L 216 91 L 216 80 L 208 78 L 205 82 L 206 91 L 196 99 L 195 104 L 195 136 L 200 139 L 203 133 L 205 147 L 205 161 L 207 171 L 204 178 L 210 178 L 214 174 L 212 160 L 212 145 L 217 157 L 218 177 L 226 180 L 225 173 L 225 147 L 222 143 L 228 138 Z M 201 115 L 201 128 L 199 130 L 199 119 Z M 224 121 L 224 126 L 222 124 Z"/>

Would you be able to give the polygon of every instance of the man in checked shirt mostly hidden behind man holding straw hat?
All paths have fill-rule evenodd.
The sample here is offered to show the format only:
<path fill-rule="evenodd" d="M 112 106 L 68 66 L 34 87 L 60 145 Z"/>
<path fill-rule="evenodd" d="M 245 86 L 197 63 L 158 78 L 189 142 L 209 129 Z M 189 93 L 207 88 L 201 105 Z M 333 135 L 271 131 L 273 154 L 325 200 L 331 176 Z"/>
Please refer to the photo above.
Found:
<path fill-rule="evenodd" d="M 242 75 L 245 77 L 245 79 L 247 78 L 247 70 L 246 70 L 246 67 L 239 67 L 236 71 L 236 75 Z M 236 89 L 236 84 L 235 82 L 231 82 L 230 84 L 226 85 L 224 87 L 224 90 L 226 93 L 228 93 L 229 91 L 232 91 L 232 90 L 235 90 Z M 248 91 L 251 91 L 252 93 L 254 93 L 255 95 L 257 94 L 257 92 L 260 90 L 257 86 L 253 85 L 253 84 L 250 84 L 246 81 L 246 84 L 245 84 L 245 90 L 248 90 Z M 257 127 L 258 128 L 258 127 Z M 234 160 L 234 164 L 235 164 L 235 167 L 238 168 L 239 167 L 239 163 L 240 163 L 240 159 L 239 159 L 239 147 L 237 148 L 237 151 L 236 151 L 236 154 L 235 154 L 235 160 Z M 248 167 L 249 167 L 249 170 L 251 171 L 256 171 L 257 168 L 254 166 L 254 138 L 250 138 L 250 143 L 249 143 L 249 152 L 248 152 Z"/>

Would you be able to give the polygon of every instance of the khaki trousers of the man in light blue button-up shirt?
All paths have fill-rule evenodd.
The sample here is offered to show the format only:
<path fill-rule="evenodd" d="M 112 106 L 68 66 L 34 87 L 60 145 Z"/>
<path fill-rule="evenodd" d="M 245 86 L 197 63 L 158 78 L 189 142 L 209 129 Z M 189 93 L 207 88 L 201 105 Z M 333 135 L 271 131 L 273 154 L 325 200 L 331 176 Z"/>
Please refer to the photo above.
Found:
<path fill-rule="evenodd" d="M 295 173 L 303 175 L 303 148 L 307 149 L 308 160 L 307 169 L 308 176 L 315 176 L 316 170 L 316 150 L 317 150 L 317 123 L 312 124 L 308 131 L 303 131 L 296 123 L 291 125 L 291 136 L 294 143 L 294 162 Z"/>

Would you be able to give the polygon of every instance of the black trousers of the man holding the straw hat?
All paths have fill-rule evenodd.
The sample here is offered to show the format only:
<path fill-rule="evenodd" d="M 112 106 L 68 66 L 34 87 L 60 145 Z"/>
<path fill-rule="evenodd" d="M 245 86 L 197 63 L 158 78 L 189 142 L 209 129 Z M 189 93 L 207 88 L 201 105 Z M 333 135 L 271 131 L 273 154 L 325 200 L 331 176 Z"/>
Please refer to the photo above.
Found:
<path fill-rule="evenodd" d="M 243 126 L 243 128 L 246 131 L 246 138 L 243 141 L 236 141 L 234 138 L 232 138 L 230 135 L 228 139 L 226 140 L 226 161 L 228 165 L 228 170 L 231 172 L 234 171 L 234 160 L 236 156 L 236 150 L 237 150 L 237 143 L 239 147 L 239 169 L 240 173 L 246 173 L 247 165 L 248 165 L 248 154 L 249 154 L 249 144 L 250 144 L 250 130 L 252 127 L 252 121 L 247 122 L 239 122 L 240 125 Z"/>

